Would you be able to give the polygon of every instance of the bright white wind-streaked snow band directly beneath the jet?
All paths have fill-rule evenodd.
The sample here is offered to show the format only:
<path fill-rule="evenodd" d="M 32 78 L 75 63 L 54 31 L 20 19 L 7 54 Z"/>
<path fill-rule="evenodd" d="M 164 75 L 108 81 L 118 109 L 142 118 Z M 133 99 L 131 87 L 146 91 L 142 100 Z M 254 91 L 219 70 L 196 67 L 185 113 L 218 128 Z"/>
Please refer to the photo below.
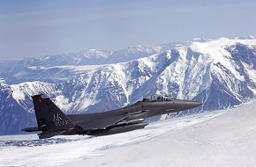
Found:
<path fill-rule="evenodd" d="M 118 148 L 125 150 L 132 145 L 139 146 L 143 142 L 158 141 L 163 134 L 177 134 L 186 127 L 212 119 L 219 114 L 221 113 L 201 113 L 158 121 L 145 129 L 102 137 L 73 135 L 39 140 L 35 134 L 1 136 L 0 166 L 56 166 L 78 161 L 86 163 L 91 158 L 94 161 L 91 163 L 96 164 L 98 156 L 104 155 L 106 150 L 115 153 Z M 123 149 L 121 150 L 124 151 Z M 138 154 L 136 151 L 138 150 L 134 153 Z"/>

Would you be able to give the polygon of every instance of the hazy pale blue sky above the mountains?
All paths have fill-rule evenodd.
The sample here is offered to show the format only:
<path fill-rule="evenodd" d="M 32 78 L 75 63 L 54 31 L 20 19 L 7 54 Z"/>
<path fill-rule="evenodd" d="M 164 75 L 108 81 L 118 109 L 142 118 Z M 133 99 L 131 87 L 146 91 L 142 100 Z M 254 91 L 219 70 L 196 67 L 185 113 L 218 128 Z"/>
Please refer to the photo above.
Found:
<path fill-rule="evenodd" d="M 0 61 L 250 34 L 255 0 L 0 1 Z"/>

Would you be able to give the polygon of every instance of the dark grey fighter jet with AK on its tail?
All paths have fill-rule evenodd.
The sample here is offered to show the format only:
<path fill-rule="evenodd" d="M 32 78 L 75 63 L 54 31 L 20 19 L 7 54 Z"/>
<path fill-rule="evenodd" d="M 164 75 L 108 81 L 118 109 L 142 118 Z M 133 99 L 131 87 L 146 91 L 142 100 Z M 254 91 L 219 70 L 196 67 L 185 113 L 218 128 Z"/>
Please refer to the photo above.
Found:
<path fill-rule="evenodd" d="M 151 96 L 133 105 L 104 113 L 65 115 L 50 98 L 32 96 L 38 127 L 22 129 L 26 132 L 41 131 L 39 139 L 55 135 L 87 134 L 94 136 L 119 134 L 148 125 L 146 119 L 165 113 L 179 113 L 202 105 L 199 102 Z"/>

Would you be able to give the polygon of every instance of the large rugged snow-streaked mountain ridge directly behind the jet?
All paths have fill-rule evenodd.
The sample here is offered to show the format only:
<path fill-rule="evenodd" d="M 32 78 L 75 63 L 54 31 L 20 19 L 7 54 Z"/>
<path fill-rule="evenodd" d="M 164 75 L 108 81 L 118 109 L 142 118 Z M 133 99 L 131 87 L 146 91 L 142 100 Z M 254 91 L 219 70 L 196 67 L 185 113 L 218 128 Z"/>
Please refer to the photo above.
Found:
<path fill-rule="evenodd" d="M 119 54 L 118 63 L 105 65 L 33 64 L 26 67 L 30 69 L 26 75 L 19 73 L 26 81 L 20 84 L 6 84 L 9 76 L 2 76 L 0 134 L 17 134 L 20 128 L 35 124 L 30 96 L 36 93 L 53 97 L 66 113 L 104 112 L 152 94 L 204 103 L 189 113 L 227 108 L 254 98 L 256 40 L 192 40 L 189 45 L 169 48 L 139 47 L 139 53 L 147 53 L 138 55 L 142 58 L 124 54 L 124 60 L 127 55 L 131 60 L 123 62 Z"/>

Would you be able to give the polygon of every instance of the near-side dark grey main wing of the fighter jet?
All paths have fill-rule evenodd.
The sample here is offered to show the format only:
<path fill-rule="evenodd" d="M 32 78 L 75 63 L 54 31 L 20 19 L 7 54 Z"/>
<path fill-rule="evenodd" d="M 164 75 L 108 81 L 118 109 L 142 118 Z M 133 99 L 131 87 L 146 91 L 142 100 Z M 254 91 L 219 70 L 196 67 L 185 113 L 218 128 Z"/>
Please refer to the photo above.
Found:
<path fill-rule="evenodd" d="M 77 126 L 82 127 L 84 130 L 105 129 L 107 127 L 115 125 L 117 122 L 124 120 L 127 117 L 128 115 L 115 115 L 105 118 L 95 117 L 93 119 L 80 122 L 77 124 Z"/>

